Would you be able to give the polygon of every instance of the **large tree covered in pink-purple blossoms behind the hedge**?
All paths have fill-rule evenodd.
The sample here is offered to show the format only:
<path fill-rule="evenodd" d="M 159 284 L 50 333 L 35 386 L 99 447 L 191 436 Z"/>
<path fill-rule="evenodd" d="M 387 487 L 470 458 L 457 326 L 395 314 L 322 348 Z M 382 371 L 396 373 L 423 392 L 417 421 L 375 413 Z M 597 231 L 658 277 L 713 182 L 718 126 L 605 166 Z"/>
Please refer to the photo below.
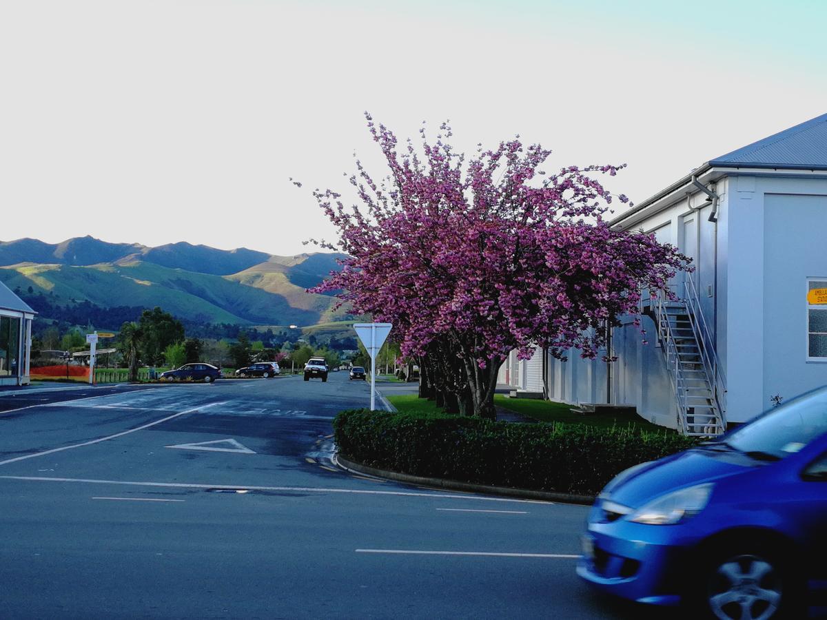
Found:
<path fill-rule="evenodd" d="M 356 160 L 350 183 L 359 203 L 350 207 L 332 189 L 313 192 L 339 234 L 317 243 L 349 258 L 311 290 L 338 291 L 354 312 L 393 322 L 404 355 L 423 364 L 439 355 L 442 372 L 453 360 L 445 383 L 466 395 L 467 413 L 495 417 L 496 377 L 509 351 L 528 359 L 541 346 L 564 359 L 574 347 L 595 358 L 607 323 L 637 314 L 641 291 L 667 289 L 688 268 L 686 256 L 653 235 L 605 220 L 615 197 L 597 177 L 623 166 L 547 174 L 551 151 L 519 136 L 493 150 L 480 145 L 466 160 L 447 124 L 436 141 L 423 127 L 417 149 L 366 119 L 390 173 L 377 181 Z"/>

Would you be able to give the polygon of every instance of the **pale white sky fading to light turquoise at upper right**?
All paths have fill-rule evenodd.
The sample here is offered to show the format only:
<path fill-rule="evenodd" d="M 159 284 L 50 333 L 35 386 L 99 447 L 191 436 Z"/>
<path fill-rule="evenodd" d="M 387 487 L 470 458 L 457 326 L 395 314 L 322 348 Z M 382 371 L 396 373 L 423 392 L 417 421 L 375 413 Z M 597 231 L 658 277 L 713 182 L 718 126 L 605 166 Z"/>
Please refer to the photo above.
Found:
<path fill-rule="evenodd" d="M 365 111 L 625 163 L 640 202 L 827 112 L 825 25 L 821 0 L 0 0 L 0 241 L 318 250 L 311 190 L 348 197 L 354 152 L 385 174 Z"/>

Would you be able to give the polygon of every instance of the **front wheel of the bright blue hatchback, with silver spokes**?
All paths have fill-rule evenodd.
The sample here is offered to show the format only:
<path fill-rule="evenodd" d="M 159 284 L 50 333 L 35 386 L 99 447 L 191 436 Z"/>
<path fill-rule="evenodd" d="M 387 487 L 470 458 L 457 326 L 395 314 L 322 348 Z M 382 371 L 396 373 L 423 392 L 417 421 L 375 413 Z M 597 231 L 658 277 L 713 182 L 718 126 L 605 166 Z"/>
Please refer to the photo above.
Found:
<path fill-rule="evenodd" d="M 731 547 L 705 570 L 705 614 L 719 620 L 797 618 L 800 588 L 780 554 L 758 544 Z"/>

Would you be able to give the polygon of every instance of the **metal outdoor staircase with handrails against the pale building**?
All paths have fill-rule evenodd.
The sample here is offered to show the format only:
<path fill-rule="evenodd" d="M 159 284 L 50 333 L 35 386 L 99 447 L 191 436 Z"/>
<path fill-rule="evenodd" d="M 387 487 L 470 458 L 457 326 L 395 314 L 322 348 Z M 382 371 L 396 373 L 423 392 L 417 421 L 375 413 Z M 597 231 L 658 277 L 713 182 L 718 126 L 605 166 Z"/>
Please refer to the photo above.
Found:
<path fill-rule="evenodd" d="M 672 300 L 659 291 L 648 313 L 657 327 L 675 390 L 679 432 L 719 435 L 726 430 L 724 375 L 691 277 L 686 278 L 683 293 Z"/>

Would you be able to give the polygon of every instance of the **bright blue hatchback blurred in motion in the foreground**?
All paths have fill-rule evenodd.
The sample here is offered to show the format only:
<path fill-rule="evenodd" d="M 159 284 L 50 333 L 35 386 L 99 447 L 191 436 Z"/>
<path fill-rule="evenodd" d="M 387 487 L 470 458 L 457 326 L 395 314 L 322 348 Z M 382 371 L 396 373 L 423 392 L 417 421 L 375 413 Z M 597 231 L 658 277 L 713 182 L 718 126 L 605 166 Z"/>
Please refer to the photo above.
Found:
<path fill-rule="evenodd" d="M 827 586 L 827 388 L 619 474 L 582 542 L 577 573 L 624 599 L 805 618 Z"/>

